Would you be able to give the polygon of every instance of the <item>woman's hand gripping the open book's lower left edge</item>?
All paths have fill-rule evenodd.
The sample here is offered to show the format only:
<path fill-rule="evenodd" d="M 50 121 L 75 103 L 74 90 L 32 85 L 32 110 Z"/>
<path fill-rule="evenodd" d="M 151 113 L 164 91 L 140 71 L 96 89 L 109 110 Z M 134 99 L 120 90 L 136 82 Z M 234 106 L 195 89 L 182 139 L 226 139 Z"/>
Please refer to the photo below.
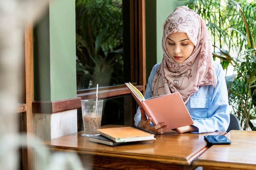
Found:
<path fill-rule="evenodd" d="M 163 134 L 165 129 L 168 128 L 166 123 L 160 123 L 154 126 L 150 125 L 150 122 L 152 120 L 151 117 L 146 117 L 145 111 L 143 108 L 140 108 L 141 111 L 141 120 L 138 123 L 138 127 L 144 128 L 146 130 L 149 130 L 151 132 L 155 132 L 156 134 Z"/>

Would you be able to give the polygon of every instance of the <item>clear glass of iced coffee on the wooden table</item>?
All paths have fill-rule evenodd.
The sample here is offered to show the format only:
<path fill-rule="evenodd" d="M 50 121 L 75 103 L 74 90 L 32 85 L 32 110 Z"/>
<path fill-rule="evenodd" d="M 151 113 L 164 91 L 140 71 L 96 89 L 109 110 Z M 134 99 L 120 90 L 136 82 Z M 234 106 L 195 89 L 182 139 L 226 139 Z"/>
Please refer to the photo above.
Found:
<path fill-rule="evenodd" d="M 90 137 L 99 135 L 96 130 L 101 128 L 103 100 L 81 100 L 81 107 L 84 128 L 84 134 L 82 136 Z"/>

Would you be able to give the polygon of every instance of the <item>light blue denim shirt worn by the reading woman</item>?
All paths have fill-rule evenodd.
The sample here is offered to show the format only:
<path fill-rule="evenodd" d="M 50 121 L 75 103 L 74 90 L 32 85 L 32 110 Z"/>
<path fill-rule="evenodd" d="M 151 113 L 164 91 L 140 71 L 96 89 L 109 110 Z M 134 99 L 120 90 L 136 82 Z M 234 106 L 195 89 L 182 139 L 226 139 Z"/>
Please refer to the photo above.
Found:
<path fill-rule="evenodd" d="M 151 97 L 151 86 L 159 64 L 153 66 L 148 77 L 145 99 Z M 186 103 L 186 108 L 194 121 L 193 125 L 199 130 L 194 133 L 226 131 L 229 126 L 229 100 L 224 71 L 217 62 L 215 62 L 215 69 L 218 80 L 216 87 L 200 86 Z M 138 108 L 134 117 L 135 126 L 138 125 L 140 119 L 141 112 Z"/>

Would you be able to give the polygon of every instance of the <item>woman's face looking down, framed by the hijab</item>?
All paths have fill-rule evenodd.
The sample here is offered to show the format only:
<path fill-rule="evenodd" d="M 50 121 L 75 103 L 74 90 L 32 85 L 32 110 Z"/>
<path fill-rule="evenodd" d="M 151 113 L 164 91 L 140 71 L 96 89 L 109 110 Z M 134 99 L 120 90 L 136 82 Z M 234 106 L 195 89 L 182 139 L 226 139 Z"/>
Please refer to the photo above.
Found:
<path fill-rule="evenodd" d="M 189 58 L 195 46 L 186 33 L 171 33 L 166 38 L 166 47 L 173 60 L 182 63 Z"/>

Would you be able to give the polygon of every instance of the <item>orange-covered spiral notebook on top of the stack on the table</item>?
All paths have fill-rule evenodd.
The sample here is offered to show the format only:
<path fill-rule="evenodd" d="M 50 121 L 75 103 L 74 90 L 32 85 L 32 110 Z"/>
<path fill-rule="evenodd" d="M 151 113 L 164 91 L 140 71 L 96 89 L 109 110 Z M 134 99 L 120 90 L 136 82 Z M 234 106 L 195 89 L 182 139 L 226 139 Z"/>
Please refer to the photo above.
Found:
<path fill-rule="evenodd" d="M 115 142 L 147 141 L 156 137 L 155 133 L 137 126 L 103 128 L 97 129 L 97 132 Z"/>

